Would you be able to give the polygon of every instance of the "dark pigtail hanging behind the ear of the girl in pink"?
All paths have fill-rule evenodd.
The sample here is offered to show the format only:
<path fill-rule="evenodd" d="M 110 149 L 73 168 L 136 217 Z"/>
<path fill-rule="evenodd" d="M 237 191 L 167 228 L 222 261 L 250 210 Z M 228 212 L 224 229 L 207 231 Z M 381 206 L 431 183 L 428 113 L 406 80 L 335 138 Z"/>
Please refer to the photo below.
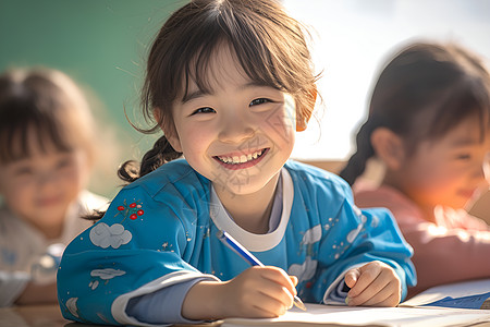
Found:
<path fill-rule="evenodd" d="M 351 186 L 366 170 L 368 159 L 375 155 L 375 149 L 371 145 L 372 130 L 373 128 L 371 120 L 368 120 L 365 124 L 363 124 L 356 135 L 357 150 L 354 155 L 352 155 L 345 167 L 339 173 L 339 175 L 343 178 Z"/>

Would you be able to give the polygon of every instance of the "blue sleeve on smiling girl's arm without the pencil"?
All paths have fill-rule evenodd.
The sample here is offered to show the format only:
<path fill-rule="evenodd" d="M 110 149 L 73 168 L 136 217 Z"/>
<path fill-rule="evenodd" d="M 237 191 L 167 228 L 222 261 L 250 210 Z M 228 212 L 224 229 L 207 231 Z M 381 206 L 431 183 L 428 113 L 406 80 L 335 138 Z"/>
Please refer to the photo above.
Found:
<path fill-rule="evenodd" d="M 405 299 L 407 287 L 416 283 L 416 274 L 409 261 L 413 250 L 406 243 L 391 214 L 383 208 L 359 210 L 345 202 L 336 223 L 330 233 L 335 238 L 324 238 L 320 243 L 320 253 L 332 253 L 333 261 L 328 257 L 320 259 L 315 287 L 316 299 L 326 302 L 330 291 L 334 291 L 340 282 L 338 278 L 345 275 L 352 267 L 380 261 L 390 265 L 399 276 L 402 284 L 402 300 Z"/>

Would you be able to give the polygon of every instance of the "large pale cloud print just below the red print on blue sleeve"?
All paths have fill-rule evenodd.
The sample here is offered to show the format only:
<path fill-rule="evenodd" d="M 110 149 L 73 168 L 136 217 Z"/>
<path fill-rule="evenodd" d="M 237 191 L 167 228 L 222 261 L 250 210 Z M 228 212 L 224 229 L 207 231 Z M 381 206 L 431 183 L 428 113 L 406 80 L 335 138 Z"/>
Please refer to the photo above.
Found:
<path fill-rule="evenodd" d="M 109 246 L 118 249 L 123 244 L 127 244 L 133 235 L 128 230 L 124 229 L 121 223 L 108 226 L 99 222 L 90 230 L 90 241 L 94 245 L 107 249 Z"/>

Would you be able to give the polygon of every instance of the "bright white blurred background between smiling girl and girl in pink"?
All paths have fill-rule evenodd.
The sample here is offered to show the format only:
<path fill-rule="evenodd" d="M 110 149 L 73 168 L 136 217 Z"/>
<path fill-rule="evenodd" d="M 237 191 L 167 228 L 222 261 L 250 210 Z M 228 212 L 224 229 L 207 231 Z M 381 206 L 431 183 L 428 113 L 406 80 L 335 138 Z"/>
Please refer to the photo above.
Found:
<path fill-rule="evenodd" d="M 346 159 L 365 120 L 372 83 L 395 49 L 412 40 L 456 41 L 490 60 L 489 0 L 283 0 L 311 31 L 319 123 L 293 155 Z"/>

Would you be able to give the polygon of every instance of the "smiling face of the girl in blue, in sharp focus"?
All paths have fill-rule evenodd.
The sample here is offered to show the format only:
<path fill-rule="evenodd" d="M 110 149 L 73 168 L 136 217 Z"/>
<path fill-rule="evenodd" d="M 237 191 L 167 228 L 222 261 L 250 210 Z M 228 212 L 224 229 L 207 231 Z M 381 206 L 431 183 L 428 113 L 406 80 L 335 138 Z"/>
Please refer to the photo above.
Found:
<path fill-rule="evenodd" d="M 175 133 L 167 133 L 169 141 L 217 192 L 257 192 L 291 155 L 294 100 L 248 78 L 228 47 L 218 51 L 208 71 L 210 93 L 191 82 L 187 96 L 175 101 Z"/>

